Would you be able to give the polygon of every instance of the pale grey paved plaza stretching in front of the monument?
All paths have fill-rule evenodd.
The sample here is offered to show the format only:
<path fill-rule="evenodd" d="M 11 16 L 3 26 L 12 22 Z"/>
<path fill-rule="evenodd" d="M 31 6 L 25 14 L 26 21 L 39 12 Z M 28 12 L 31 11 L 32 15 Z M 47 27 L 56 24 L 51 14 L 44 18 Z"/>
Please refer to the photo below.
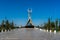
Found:
<path fill-rule="evenodd" d="M 36 28 L 21 28 L 9 32 L 1 32 L 0 40 L 60 40 L 60 33 L 41 31 Z"/>

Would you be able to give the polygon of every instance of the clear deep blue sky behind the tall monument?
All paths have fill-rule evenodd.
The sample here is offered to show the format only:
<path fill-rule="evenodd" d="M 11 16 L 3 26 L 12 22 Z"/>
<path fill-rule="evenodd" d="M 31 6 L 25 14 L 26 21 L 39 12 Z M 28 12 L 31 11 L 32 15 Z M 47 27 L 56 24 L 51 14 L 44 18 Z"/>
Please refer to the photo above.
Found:
<path fill-rule="evenodd" d="M 6 17 L 17 25 L 26 25 L 28 8 L 32 8 L 34 25 L 47 22 L 49 17 L 60 19 L 60 0 L 0 0 L 0 22 Z"/>

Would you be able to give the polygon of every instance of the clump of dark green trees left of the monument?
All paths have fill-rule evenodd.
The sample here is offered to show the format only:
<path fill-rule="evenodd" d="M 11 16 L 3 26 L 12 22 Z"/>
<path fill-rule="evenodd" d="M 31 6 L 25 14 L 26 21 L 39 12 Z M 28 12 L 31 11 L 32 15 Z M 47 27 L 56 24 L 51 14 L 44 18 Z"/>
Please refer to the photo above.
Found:
<path fill-rule="evenodd" d="M 10 23 L 8 20 L 4 21 L 2 20 L 2 23 L 0 25 L 0 32 L 1 30 L 5 31 L 5 30 L 12 30 L 15 29 L 16 27 L 14 26 L 14 22 L 12 21 L 12 23 Z"/>

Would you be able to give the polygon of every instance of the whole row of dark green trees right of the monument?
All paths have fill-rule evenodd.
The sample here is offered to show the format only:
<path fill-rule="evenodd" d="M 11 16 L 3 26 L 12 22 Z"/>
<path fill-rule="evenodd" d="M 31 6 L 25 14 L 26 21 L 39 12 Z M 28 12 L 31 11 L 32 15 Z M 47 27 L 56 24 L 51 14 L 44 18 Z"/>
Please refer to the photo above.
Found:
<path fill-rule="evenodd" d="M 55 22 L 53 21 L 51 22 L 49 18 L 48 22 L 44 24 L 44 28 L 52 31 L 54 30 L 60 31 L 60 23 L 59 23 L 59 26 L 58 26 L 58 23 L 59 23 L 58 19 Z"/>

